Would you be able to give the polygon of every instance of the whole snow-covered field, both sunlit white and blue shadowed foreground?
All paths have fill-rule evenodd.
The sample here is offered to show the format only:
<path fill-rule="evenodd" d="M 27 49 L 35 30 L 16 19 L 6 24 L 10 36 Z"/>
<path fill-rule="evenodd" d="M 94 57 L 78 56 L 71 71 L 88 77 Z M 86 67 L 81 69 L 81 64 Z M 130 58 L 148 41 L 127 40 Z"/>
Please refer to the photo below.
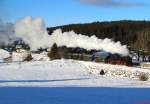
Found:
<path fill-rule="evenodd" d="M 103 69 L 107 74 L 99 75 Z M 0 64 L 0 104 L 150 104 L 150 80 L 111 74 L 149 69 L 75 60 Z"/>

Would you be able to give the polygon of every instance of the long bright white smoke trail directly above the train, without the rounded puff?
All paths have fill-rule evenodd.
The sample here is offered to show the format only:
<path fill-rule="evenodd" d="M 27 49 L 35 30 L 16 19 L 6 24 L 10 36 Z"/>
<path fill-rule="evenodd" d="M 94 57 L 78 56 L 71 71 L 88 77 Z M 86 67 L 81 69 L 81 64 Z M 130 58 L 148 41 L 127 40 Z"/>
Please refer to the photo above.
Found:
<path fill-rule="evenodd" d="M 126 46 L 122 46 L 120 42 L 113 42 L 111 39 L 98 39 L 96 36 L 85 36 L 76 34 L 74 31 L 64 32 L 60 29 L 55 30 L 50 36 L 52 43 L 57 43 L 58 46 L 65 45 L 67 47 L 81 47 L 87 50 L 96 49 L 104 50 L 110 53 L 119 53 L 122 55 L 128 54 Z"/>

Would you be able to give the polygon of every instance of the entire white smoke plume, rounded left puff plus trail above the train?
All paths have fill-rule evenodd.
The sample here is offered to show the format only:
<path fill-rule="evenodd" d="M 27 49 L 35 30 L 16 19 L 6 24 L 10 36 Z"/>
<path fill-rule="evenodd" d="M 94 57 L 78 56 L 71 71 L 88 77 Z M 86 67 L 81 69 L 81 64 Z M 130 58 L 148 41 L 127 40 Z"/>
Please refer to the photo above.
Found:
<path fill-rule="evenodd" d="M 16 35 L 28 43 L 32 50 L 40 47 L 51 47 L 54 43 L 58 46 L 80 47 L 87 50 L 96 49 L 104 50 L 110 53 L 119 53 L 128 55 L 128 49 L 120 42 L 114 42 L 111 39 L 98 39 L 96 36 L 85 36 L 76 34 L 74 31 L 64 32 L 60 29 L 55 30 L 48 35 L 44 22 L 41 18 L 32 19 L 25 17 L 15 24 Z"/>

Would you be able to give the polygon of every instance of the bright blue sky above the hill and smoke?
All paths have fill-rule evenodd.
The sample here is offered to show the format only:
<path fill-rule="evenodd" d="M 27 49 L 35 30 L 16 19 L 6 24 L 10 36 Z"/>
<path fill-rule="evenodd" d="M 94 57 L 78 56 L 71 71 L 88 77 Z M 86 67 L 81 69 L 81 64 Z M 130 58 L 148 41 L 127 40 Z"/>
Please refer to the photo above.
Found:
<path fill-rule="evenodd" d="M 111 20 L 150 20 L 150 0 L 0 0 L 0 18 L 42 17 L 47 26 Z"/>

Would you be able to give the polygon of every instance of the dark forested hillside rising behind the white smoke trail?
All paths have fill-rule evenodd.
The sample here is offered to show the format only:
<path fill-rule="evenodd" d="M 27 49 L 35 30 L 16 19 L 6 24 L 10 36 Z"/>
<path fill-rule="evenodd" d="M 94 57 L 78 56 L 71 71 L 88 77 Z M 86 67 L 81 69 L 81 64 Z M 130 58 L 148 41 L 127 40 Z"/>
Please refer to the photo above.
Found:
<path fill-rule="evenodd" d="M 122 44 L 131 46 L 133 49 L 150 52 L 150 21 L 112 21 L 93 22 L 86 24 L 70 24 L 47 28 L 51 34 L 53 30 L 61 28 L 63 32 L 74 30 L 84 35 L 96 35 L 98 38 L 111 38 L 121 41 Z"/>

